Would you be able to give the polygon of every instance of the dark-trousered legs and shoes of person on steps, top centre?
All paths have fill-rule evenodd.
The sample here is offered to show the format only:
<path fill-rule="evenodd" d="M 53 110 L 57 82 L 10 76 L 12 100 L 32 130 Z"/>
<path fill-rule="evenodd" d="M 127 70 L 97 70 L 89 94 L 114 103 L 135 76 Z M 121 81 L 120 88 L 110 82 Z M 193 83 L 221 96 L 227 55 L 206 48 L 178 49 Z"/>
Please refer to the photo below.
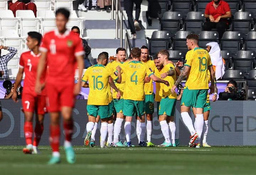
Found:
<path fill-rule="evenodd" d="M 135 3 L 135 20 L 133 21 L 133 3 Z M 142 0 L 124 0 L 124 10 L 128 17 L 128 24 L 132 33 L 131 38 L 136 39 L 136 31 L 140 31 L 139 16 Z"/>

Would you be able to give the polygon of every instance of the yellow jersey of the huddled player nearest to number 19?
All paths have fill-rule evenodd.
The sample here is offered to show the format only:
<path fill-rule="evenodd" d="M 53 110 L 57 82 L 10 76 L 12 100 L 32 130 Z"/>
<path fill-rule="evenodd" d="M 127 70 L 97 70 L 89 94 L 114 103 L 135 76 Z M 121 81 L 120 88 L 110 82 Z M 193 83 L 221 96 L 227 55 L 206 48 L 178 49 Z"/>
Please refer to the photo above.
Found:
<path fill-rule="evenodd" d="M 171 88 L 172 86 L 174 86 L 174 83 L 176 81 L 176 71 L 175 71 L 174 65 L 171 63 L 166 64 L 161 70 L 161 74 L 168 72 L 169 70 L 174 70 L 175 74 L 173 76 L 167 76 L 163 79 L 165 81 L 168 81 L 170 86 L 166 86 L 164 83 L 160 83 L 160 96 L 162 98 L 169 97 L 169 98 L 177 99 L 177 94 L 176 93 L 173 94 L 171 92 Z"/>

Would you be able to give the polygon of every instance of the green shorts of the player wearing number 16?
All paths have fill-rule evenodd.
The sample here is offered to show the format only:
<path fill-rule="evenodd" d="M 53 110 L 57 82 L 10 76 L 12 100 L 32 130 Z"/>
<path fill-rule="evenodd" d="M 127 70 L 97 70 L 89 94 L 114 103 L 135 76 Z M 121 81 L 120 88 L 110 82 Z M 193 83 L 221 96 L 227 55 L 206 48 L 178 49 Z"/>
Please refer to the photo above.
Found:
<path fill-rule="evenodd" d="M 87 105 L 87 115 L 99 115 L 101 119 L 108 118 L 109 111 L 109 105 Z"/>

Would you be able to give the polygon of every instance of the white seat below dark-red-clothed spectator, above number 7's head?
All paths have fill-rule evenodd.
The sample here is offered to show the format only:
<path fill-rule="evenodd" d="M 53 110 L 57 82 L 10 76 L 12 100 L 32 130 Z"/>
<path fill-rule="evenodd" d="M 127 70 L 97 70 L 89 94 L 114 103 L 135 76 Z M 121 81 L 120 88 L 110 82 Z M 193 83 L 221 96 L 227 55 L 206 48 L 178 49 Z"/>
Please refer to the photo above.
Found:
<path fill-rule="evenodd" d="M 32 10 L 17 10 L 16 17 L 21 18 L 21 29 L 31 29 L 39 31 L 39 20 L 34 16 Z"/>

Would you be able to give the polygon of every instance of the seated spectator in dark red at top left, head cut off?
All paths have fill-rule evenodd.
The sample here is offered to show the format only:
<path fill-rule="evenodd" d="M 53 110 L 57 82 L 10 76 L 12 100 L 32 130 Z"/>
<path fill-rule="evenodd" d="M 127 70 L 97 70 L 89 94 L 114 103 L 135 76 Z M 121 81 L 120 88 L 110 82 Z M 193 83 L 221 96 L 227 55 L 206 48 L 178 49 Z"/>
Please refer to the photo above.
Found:
<path fill-rule="evenodd" d="M 14 17 L 16 17 L 17 10 L 32 10 L 35 17 L 37 12 L 36 4 L 30 2 L 30 0 L 8 1 L 8 9 L 14 13 Z"/>

